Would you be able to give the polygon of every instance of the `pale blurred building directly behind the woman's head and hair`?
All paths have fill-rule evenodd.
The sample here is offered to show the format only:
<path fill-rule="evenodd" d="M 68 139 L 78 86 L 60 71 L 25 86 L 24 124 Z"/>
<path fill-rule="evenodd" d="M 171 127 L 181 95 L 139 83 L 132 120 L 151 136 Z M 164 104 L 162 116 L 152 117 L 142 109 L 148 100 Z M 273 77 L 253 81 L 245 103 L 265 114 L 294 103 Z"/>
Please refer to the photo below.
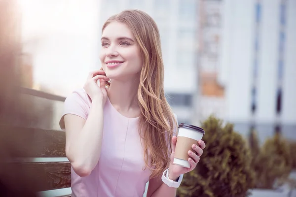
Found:
<path fill-rule="evenodd" d="M 195 119 L 198 0 L 101 0 L 100 27 L 113 14 L 136 8 L 157 23 L 165 65 L 165 93 L 178 121 Z"/>

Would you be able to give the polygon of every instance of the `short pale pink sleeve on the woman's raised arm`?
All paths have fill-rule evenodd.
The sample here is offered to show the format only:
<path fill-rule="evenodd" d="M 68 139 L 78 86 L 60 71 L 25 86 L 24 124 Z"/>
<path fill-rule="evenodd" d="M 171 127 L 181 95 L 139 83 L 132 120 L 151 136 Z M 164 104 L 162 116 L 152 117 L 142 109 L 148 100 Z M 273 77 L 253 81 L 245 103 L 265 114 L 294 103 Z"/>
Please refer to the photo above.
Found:
<path fill-rule="evenodd" d="M 67 114 L 74 114 L 86 120 L 90 109 L 90 98 L 84 89 L 75 90 L 64 102 L 63 115 L 60 119 L 60 128 L 65 130 L 64 117 Z"/>

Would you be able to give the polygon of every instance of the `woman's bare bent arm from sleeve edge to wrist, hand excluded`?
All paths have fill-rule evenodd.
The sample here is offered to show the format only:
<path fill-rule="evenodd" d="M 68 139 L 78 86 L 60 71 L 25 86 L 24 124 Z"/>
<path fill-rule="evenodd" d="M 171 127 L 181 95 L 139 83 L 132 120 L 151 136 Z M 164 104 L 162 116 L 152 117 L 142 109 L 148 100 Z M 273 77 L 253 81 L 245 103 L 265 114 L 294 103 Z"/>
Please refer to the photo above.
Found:
<path fill-rule="evenodd" d="M 91 173 L 99 161 L 103 137 L 103 100 L 92 100 L 87 120 L 65 115 L 66 155 L 81 177 Z"/>

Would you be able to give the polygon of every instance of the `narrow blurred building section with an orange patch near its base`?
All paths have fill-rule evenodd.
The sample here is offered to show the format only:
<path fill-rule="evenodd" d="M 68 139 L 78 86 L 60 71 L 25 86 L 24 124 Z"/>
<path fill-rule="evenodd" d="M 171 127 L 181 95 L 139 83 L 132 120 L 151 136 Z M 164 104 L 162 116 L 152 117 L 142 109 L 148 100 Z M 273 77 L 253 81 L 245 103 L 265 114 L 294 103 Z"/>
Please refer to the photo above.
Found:
<path fill-rule="evenodd" d="M 225 116 L 224 87 L 219 82 L 222 0 L 199 0 L 198 98 L 196 121 L 215 114 Z M 197 123 L 196 123 L 197 124 Z"/>

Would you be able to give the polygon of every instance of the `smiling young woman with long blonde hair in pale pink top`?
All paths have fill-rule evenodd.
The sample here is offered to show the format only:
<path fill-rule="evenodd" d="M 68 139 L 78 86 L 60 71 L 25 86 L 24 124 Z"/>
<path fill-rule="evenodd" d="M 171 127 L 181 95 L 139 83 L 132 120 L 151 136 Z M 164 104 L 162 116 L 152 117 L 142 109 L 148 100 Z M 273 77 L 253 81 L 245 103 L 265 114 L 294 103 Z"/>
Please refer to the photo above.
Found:
<path fill-rule="evenodd" d="M 102 69 L 66 99 L 60 122 L 73 197 L 143 197 L 148 181 L 148 197 L 175 197 L 205 144 L 192 144 L 190 168 L 173 164 L 177 121 L 164 96 L 157 26 L 125 10 L 106 21 L 101 42 Z"/>

